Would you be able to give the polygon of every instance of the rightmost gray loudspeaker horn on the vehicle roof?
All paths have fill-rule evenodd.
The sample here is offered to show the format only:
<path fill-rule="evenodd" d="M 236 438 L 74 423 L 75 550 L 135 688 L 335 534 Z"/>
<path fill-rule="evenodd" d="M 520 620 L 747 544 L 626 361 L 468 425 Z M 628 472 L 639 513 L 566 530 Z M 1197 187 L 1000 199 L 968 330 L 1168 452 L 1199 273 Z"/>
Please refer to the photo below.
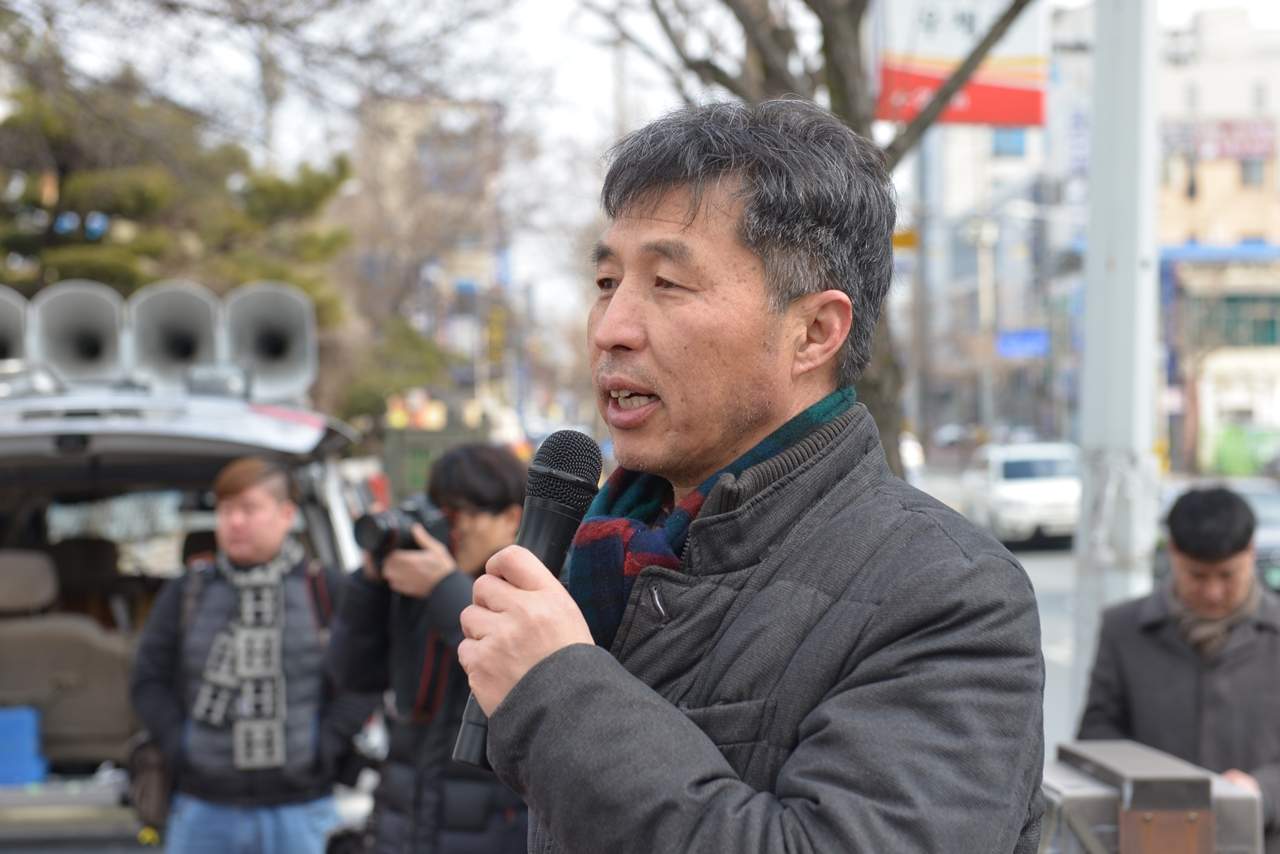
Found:
<path fill-rule="evenodd" d="M 316 312 L 285 282 L 252 282 L 227 294 L 230 360 L 248 371 L 255 401 L 297 402 L 316 379 Z"/>

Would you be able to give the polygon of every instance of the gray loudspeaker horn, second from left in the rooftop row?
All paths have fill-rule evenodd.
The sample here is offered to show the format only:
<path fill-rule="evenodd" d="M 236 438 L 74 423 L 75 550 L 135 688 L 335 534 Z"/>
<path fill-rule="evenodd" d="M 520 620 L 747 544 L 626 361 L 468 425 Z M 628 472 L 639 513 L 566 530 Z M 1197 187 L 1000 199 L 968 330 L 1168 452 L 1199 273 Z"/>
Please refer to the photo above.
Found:
<path fill-rule="evenodd" d="M 120 294 L 101 282 L 49 286 L 27 309 L 27 357 L 68 383 L 123 380 L 123 306 Z"/>

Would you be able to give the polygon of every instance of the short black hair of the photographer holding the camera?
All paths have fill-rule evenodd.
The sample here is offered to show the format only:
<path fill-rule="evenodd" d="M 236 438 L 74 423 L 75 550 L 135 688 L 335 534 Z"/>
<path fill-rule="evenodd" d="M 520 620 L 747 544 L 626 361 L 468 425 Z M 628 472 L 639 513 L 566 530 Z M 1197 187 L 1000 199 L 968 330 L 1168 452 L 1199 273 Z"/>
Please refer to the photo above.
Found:
<path fill-rule="evenodd" d="M 525 503 L 529 467 L 507 448 L 460 444 L 431 466 L 426 495 L 436 507 L 500 513 Z"/>

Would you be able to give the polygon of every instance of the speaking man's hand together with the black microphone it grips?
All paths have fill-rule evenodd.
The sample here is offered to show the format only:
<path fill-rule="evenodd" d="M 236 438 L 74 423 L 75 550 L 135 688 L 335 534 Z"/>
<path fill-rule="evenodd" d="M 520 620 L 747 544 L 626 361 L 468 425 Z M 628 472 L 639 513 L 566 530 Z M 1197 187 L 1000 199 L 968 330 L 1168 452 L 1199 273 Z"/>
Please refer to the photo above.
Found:
<path fill-rule="evenodd" d="M 543 658 L 593 643 L 556 572 L 595 497 L 600 469 L 600 448 L 575 430 L 549 435 L 529 467 L 516 545 L 489 560 L 486 574 L 476 579 L 474 604 L 462 612 L 466 639 L 458 645 L 458 661 L 474 693 L 453 748 L 458 762 L 488 768 L 485 711 L 497 708 Z"/>

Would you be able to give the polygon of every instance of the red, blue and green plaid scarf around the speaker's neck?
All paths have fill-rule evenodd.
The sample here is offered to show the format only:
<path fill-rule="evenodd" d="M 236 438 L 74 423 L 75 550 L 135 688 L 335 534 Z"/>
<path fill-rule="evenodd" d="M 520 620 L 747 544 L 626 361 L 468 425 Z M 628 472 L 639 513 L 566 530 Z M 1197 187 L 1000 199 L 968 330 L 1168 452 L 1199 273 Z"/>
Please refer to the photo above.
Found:
<path fill-rule="evenodd" d="M 772 460 L 818 428 L 847 412 L 858 396 L 842 388 L 822 398 L 771 433 L 675 503 L 671 484 L 658 475 L 618 467 L 596 494 L 573 536 L 568 592 L 582 609 L 595 643 L 608 649 L 622 625 L 622 612 L 640 570 L 680 568 L 689 526 L 721 475 L 740 476 Z"/>

